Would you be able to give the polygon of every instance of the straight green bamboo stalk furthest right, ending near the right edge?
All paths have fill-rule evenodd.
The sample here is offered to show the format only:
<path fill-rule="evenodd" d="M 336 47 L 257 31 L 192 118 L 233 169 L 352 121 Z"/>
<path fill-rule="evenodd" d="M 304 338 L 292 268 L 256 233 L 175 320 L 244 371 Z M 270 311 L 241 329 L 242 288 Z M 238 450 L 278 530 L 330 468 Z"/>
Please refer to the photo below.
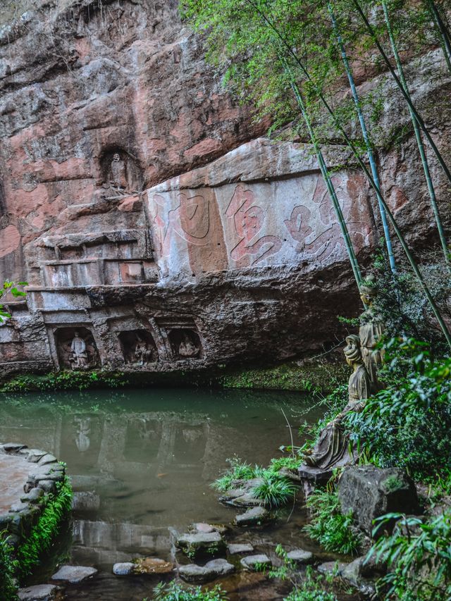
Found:
<path fill-rule="evenodd" d="M 407 94 L 409 94 L 409 87 L 407 86 L 407 81 L 406 81 L 406 78 L 404 75 L 404 70 L 402 68 L 400 55 L 397 51 L 395 36 L 393 35 L 392 26 L 390 24 L 390 16 L 388 14 L 387 2 L 386 2 L 386 0 L 381 0 L 381 3 L 382 3 L 384 18 L 385 18 L 385 24 L 387 25 L 388 36 L 390 37 L 390 44 L 391 44 L 392 50 L 393 50 L 393 56 L 395 57 L 397 72 L 400 75 L 400 81 L 401 81 L 405 91 L 407 92 Z M 418 121 L 416 120 L 414 113 L 412 112 L 410 107 L 409 107 L 409 113 L 410 113 L 410 118 L 412 119 L 412 124 L 414 126 L 416 144 L 418 144 L 418 149 L 419 149 L 419 153 L 421 156 L 421 164 L 423 165 L 424 175 L 426 177 L 426 183 L 428 186 L 429 197 L 431 198 L 431 205 L 432 205 L 432 209 L 433 209 L 433 213 L 434 213 L 434 217 L 435 217 L 435 223 L 437 223 L 438 235 L 440 237 L 440 244 L 442 245 L 443 253 L 445 254 L 445 262 L 449 266 L 450 265 L 449 249 L 448 249 L 447 243 L 446 243 L 445 232 L 443 231 L 443 223 L 440 218 L 440 211 L 438 209 L 437 197 L 435 196 L 435 190 L 434 190 L 433 182 L 432 182 L 432 178 L 431 178 L 431 171 L 429 170 L 428 160 L 426 159 L 426 152 L 424 151 L 423 140 L 421 140 L 421 132 L 419 129 Z"/>

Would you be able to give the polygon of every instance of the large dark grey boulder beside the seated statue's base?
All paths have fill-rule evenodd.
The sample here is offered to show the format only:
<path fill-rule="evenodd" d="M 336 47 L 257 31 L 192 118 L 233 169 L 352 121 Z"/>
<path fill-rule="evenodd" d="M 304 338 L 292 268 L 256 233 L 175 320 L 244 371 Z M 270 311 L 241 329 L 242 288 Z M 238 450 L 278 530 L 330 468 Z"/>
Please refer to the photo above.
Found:
<path fill-rule="evenodd" d="M 347 467 L 338 482 L 338 497 L 342 512 L 352 510 L 354 521 L 369 535 L 376 518 L 396 512 L 414 514 L 419 510 L 415 485 L 398 468 Z"/>

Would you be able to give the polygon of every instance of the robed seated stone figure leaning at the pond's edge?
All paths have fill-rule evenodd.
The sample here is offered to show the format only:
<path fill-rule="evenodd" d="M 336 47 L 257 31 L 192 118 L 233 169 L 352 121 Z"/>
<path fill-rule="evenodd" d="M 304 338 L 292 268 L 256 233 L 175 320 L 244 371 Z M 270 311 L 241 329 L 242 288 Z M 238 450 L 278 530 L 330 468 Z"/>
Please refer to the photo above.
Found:
<path fill-rule="evenodd" d="M 350 411 L 363 409 L 364 401 L 370 395 L 370 380 L 363 363 L 359 337 L 351 334 L 346 337 L 346 343 L 343 352 L 347 364 L 353 368 L 348 385 L 349 402 L 322 430 L 314 448 L 304 455 L 304 463 L 307 466 L 330 470 L 353 464 L 356 459 L 350 450 L 350 440 L 343 418 Z"/>

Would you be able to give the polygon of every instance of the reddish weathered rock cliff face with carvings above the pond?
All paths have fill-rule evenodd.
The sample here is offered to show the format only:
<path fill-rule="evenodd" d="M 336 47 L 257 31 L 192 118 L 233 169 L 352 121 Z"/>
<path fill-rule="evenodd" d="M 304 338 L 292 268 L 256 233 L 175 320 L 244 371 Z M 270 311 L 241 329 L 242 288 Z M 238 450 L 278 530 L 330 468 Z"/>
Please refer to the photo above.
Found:
<path fill-rule="evenodd" d="M 333 340 L 335 316 L 359 302 L 316 161 L 261 137 L 178 2 L 27 4 L 0 30 L 0 280 L 30 284 L 0 328 L 1 374 L 195 369 Z M 426 59 L 438 77 L 415 94 L 433 121 L 450 77 L 438 51 Z M 388 129 L 401 128 L 386 89 Z M 446 131 L 433 126 L 449 156 Z M 326 154 L 365 263 L 372 195 L 345 148 Z M 435 230 L 416 160 L 409 135 L 380 156 L 385 194 L 420 247 Z"/>

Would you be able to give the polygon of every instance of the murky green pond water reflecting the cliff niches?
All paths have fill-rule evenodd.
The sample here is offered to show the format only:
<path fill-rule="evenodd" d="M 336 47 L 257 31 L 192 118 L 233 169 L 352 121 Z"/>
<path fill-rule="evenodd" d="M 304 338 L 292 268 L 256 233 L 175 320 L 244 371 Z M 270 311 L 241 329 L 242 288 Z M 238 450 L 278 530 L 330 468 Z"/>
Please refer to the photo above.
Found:
<path fill-rule="evenodd" d="M 267 465 L 290 444 L 292 426 L 321 417 L 307 396 L 289 392 L 147 389 L 52 392 L 0 397 L 0 440 L 42 448 L 66 461 L 75 491 L 73 522 L 57 551 L 70 563 L 91 565 L 94 581 L 68 591 L 69 600 L 142 601 L 152 597 L 152 578 L 120 579 L 116 562 L 175 554 L 175 531 L 198 521 L 228 524 L 236 509 L 218 503 L 209 484 L 237 455 Z M 285 420 L 285 416 L 286 420 Z M 291 508 L 290 508 L 291 509 Z M 258 530 L 230 531 L 258 551 L 318 547 L 302 534 L 306 516 L 297 503 L 289 521 Z M 42 583 L 54 563 L 35 574 Z M 228 578 L 230 600 L 281 599 L 285 585 L 261 574 Z M 342 597 L 350 598 L 350 597 Z"/>

